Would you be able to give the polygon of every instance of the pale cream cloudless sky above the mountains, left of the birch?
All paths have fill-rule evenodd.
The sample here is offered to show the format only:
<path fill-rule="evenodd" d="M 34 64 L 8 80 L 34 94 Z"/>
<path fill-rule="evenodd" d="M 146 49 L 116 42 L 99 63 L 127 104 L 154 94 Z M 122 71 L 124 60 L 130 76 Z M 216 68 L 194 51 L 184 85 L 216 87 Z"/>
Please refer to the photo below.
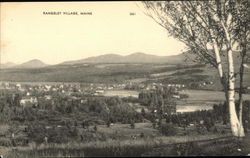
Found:
<path fill-rule="evenodd" d="M 1 63 L 58 64 L 110 53 L 168 56 L 185 50 L 143 13 L 140 2 L 5 2 L 0 7 Z"/>

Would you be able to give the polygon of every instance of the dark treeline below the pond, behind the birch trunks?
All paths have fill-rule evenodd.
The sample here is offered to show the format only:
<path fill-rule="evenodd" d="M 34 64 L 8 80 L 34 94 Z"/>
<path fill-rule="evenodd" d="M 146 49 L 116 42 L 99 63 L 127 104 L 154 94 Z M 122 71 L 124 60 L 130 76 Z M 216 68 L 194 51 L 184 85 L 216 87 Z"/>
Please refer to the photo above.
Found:
<path fill-rule="evenodd" d="M 236 105 L 237 104 L 238 103 L 236 103 Z M 226 103 L 215 104 L 213 106 L 213 110 L 165 115 L 165 119 L 167 124 L 174 124 L 184 128 L 193 124 L 197 127 L 197 130 L 199 132 L 204 132 L 204 129 L 206 131 L 217 131 L 218 129 L 215 126 L 216 123 L 222 123 L 224 125 L 229 124 L 228 106 L 226 105 Z M 246 132 L 250 129 L 249 100 L 244 101 L 243 103 L 243 126 Z"/>

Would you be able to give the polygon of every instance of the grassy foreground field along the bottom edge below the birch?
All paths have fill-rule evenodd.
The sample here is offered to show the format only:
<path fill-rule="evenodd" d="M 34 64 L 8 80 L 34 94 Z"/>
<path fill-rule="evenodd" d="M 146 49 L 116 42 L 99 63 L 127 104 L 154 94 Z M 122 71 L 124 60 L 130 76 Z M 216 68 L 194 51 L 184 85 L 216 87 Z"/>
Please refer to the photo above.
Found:
<path fill-rule="evenodd" d="M 245 145 L 245 142 L 242 144 Z M 180 150 L 181 147 L 181 150 Z M 15 148 L 7 158 L 40 156 L 188 156 L 188 155 L 247 155 L 249 149 L 241 148 L 237 140 L 230 135 L 196 136 L 196 137 L 159 137 L 155 139 L 138 139 L 106 142 L 67 143 Z M 229 150 L 230 148 L 230 150 Z"/>

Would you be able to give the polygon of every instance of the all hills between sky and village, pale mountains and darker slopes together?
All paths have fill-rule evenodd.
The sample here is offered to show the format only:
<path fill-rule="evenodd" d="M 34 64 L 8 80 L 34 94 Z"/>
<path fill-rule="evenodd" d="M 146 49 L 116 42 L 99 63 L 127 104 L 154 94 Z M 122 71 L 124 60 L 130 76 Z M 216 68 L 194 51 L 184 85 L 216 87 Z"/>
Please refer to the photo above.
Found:
<path fill-rule="evenodd" d="M 185 59 L 185 54 L 160 57 L 134 53 L 127 56 L 106 54 L 58 65 L 31 60 L 1 69 L 0 81 L 121 83 L 133 79 L 151 79 L 152 82 L 190 83 L 208 80 L 218 82 L 214 86 L 219 88 L 215 68 L 191 61 L 184 62 Z M 235 68 L 238 69 L 239 61 L 236 59 L 235 57 Z M 223 65 L 226 69 L 227 65 Z M 244 83 L 250 86 L 250 69 L 246 69 L 245 73 Z"/>

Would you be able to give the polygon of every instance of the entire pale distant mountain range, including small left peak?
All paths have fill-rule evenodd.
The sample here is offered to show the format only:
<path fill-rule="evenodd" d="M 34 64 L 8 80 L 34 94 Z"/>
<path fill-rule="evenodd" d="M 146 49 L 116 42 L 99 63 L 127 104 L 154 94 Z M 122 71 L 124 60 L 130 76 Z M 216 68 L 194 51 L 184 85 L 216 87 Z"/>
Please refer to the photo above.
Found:
<path fill-rule="evenodd" d="M 65 61 L 57 65 L 74 65 L 84 63 L 167 63 L 167 64 L 181 64 L 185 60 L 184 53 L 172 56 L 157 56 L 145 53 L 133 53 L 130 55 L 122 56 L 117 54 L 105 54 L 95 57 L 89 57 L 80 60 Z M 5 63 L 1 64 L 2 69 L 6 68 L 42 68 L 50 66 L 41 60 L 33 59 L 22 64 Z M 51 65 L 52 66 L 52 65 Z M 53 65 L 56 66 L 56 65 Z"/>

